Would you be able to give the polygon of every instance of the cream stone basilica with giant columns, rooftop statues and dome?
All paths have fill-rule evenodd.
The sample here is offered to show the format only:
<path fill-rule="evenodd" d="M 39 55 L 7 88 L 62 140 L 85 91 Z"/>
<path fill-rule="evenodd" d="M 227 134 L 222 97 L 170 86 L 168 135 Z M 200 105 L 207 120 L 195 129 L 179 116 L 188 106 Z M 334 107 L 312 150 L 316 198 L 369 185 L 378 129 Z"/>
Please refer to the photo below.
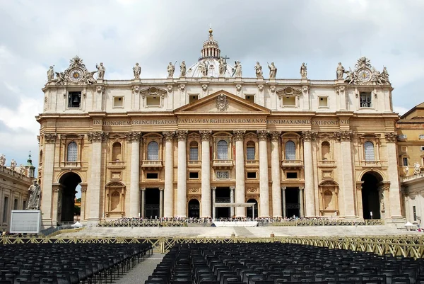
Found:
<path fill-rule="evenodd" d="M 40 123 L 42 216 L 317 217 L 402 222 L 389 75 L 361 57 L 335 79 L 242 74 L 212 30 L 167 78 L 104 79 L 79 57 L 49 69 Z M 254 64 L 252 64 L 253 66 Z M 246 66 L 244 66 L 246 68 Z M 165 69 L 165 68 L 164 68 Z M 268 75 L 269 69 L 269 75 Z M 265 74 L 266 73 L 266 74 Z M 220 207 L 220 203 L 231 203 Z M 253 208 L 242 207 L 254 203 Z"/>

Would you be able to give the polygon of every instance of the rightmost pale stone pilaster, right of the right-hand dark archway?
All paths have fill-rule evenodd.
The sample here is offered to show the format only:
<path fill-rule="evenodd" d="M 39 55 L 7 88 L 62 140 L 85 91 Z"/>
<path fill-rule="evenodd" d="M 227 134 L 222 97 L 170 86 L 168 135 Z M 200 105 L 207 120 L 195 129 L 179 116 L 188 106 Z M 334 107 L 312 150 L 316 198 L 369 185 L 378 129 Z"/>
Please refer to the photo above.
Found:
<path fill-rule="evenodd" d="M 399 188 L 399 172 L 396 161 L 396 132 L 385 133 L 387 149 L 387 176 L 389 176 L 390 189 L 385 191 L 389 198 L 389 214 L 386 216 L 393 219 L 402 219 L 401 215 L 401 190 Z M 387 208 L 386 208 L 387 211 Z M 401 221 L 399 221 L 401 222 Z"/>

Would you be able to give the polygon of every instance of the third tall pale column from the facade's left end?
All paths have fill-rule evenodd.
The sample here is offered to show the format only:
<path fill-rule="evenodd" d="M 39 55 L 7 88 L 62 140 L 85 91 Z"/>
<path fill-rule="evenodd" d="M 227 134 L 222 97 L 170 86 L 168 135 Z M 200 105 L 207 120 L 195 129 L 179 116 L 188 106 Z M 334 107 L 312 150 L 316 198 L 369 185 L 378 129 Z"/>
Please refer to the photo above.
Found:
<path fill-rule="evenodd" d="M 131 174 L 129 177 L 129 216 L 139 217 L 140 210 L 140 137 L 141 132 L 126 132 L 131 143 Z"/>

